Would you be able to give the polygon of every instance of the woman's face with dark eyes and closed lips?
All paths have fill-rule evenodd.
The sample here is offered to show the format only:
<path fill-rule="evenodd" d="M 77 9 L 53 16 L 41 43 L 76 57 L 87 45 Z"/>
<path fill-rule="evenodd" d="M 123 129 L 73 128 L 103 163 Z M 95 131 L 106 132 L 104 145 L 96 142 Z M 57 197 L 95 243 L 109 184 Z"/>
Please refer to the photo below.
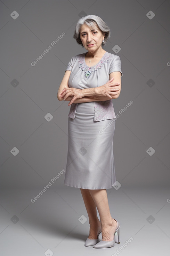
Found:
<path fill-rule="evenodd" d="M 80 39 L 86 50 L 89 52 L 95 52 L 100 47 L 102 48 L 102 40 L 105 37 L 105 33 L 102 34 L 99 27 L 94 23 L 95 27 L 91 30 L 88 25 L 83 24 L 80 27 Z"/>

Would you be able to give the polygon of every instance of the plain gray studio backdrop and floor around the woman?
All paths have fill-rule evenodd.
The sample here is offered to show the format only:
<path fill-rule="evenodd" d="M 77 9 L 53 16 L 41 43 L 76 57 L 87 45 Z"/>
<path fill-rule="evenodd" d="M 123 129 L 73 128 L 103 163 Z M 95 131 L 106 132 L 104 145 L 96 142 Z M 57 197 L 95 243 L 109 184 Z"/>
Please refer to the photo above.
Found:
<path fill-rule="evenodd" d="M 0 1 L 0 255 L 167 255 L 169 9 L 169 0 Z M 19 14 L 15 20 L 10 16 L 14 11 Z M 86 52 L 73 32 L 79 18 L 88 14 L 103 18 L 111 28 L 103 48 L 120 56 L 123 73 L 120 96 L 113 100 L 119 114 L 114 159 L 121 186 L 107 190 L 112 217 L 121 224 L 121 244 L 100 250 L 84 247 L 89 224 L 80 189 L 63 185 L 70 106 L 57 99 L 68 62 Z M 121 48 L 118 53 L 112 50 L 115 45 Z"/>

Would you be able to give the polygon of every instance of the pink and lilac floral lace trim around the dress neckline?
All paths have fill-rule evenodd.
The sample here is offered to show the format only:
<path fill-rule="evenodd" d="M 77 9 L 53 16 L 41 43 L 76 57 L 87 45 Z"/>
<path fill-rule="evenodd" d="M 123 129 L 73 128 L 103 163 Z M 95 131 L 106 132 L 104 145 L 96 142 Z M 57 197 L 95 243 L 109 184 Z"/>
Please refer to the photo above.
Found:
<path fill-rule="evenodd" d="M 78 59 L 79 68 L 81 68 L 82 71 L 85 71 L 85 74 L 87 72 L 91 74 L 92 72 L 94 72 L 98 68 L 102 68 L 104 63 L 108 63 L 108 59 L 111 56 L 111 53 L 105 52 L 105 54 L 103 55 L 102 59 L 96 65 L 88 67 L 86 62 L 85 62 L 85 54 L 86 53 L 82 53 L 79 56 L 79 59 Z"/>

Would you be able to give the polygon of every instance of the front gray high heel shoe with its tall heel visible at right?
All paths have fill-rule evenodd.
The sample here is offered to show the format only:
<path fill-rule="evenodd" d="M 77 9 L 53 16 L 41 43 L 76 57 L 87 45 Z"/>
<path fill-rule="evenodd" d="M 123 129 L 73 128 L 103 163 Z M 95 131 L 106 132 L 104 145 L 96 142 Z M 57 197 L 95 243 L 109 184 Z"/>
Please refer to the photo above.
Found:
<path fill-rule="evenodd" d="M 114 232 L 114 239 L 112 241 L 103 241 L 101 240 L 93 248 L 109 248 L 113 247 L 115 242 L 120 243 L 120 223 L 114 219 L 117 222 L 116 230 Z"/>

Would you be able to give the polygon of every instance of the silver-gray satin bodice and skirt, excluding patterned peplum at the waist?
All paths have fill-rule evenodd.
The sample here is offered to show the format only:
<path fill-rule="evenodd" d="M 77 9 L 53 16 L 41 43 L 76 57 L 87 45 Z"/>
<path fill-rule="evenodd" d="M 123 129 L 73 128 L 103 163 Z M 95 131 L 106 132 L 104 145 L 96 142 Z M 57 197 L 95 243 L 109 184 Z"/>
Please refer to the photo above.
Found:
<path fill-rule="evenodd" d="M 106 52 L 95 66 L 89 68 L 84 58 L 86 53 L 74 56 L 68 63 L 66 70 L 72 71 L 68 80 L 69 87 L 97 87 L 104 85 L 113 71 L 120 71 L 123 75 L 119 56 Z M 68 117 L 64 185 L 83 189 L 112 188 L 116 181 L 114 130 L 115 119 L 94 121 L 94 101 L 78 103 L 75 118 Z"/>

